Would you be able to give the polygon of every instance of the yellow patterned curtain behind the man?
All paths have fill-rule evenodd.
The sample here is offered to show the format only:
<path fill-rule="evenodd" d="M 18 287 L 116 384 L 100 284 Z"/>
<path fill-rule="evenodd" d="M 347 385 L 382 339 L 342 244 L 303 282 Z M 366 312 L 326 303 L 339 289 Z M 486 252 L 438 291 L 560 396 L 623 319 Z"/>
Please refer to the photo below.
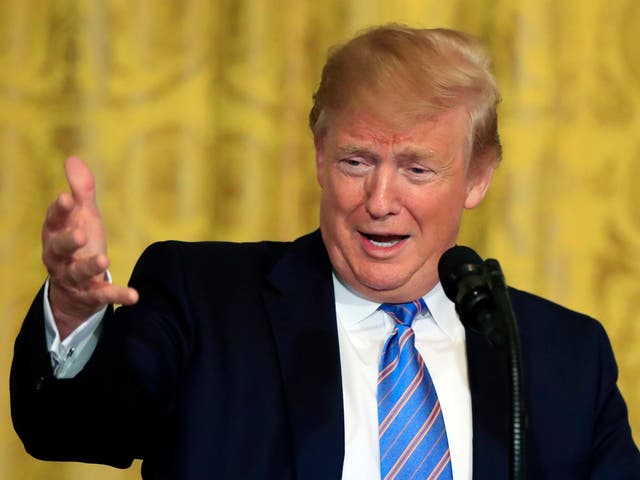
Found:
<path fill-rule="evenodd" d="M 0 0 L 0 11 L 5 386 L 66 156 L 96 173 L 120 281 L 154 240 L 293 238 L 317 225 L 306 116 L 326 50 L 397 21 L 487 41 L 505 154 L 463 241 L 499 258 L 512 285 L 604 323 L 640 438 L 636 0 Z M 0 409 L 0 478 L 138 478 L 34 460 L 6 387 Z"/>

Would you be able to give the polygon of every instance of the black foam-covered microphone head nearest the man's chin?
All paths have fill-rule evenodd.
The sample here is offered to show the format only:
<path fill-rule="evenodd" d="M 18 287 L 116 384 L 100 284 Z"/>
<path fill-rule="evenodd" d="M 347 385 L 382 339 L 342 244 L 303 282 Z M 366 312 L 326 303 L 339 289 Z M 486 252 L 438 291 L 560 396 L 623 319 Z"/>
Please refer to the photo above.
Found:
<path fill-rule="evenodd" d="M 502 318 L 480 255 L 469 247 L 452 247 L 438 262 L 438 276 L 464 327 L 482 333 L 494 347 L 504 347 Z"/>

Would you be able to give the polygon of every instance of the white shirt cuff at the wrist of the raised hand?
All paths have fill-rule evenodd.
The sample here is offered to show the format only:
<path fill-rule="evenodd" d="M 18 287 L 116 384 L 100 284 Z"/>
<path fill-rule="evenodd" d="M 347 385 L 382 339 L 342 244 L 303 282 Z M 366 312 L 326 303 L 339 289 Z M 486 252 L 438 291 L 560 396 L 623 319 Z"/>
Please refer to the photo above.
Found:
<path fill-rule="evenodd" d="M 111 275 L 107 272 L 107 280 Z M 44 285 L 43 296 L 44 326 L 47 349 L 51 356 L 53 375 L 56 378 L 73 378 L 87 364 L 98 344 L 102 330 L 102 318 L 107 311 L 105 305 L 100 311 L 81 323 L 67 338 L 60 341 L 60 332 L 49 303 L 49 279 Z"/>

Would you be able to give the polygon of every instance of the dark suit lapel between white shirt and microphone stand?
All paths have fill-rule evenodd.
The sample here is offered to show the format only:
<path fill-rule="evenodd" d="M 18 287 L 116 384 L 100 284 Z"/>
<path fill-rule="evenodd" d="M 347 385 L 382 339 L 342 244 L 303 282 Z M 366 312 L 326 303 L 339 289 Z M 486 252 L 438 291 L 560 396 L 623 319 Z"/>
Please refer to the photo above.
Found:
<path fill-rule="evenodd" d="M 473 413 L 473 478 L 509 477 L 507 358 L 484 336 L 467 330 L 467 363 Z"/>

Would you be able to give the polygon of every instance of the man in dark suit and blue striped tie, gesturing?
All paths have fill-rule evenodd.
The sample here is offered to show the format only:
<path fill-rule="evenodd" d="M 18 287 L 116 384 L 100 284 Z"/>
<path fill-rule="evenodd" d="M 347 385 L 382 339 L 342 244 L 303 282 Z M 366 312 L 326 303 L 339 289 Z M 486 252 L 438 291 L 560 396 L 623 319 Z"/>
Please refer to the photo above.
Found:
<path fill-rule="evenodd" d="M 93 178 L 69 159 L 12 368 L 27 450 L 142 458 L 149 479 L 506 479 L 504 353 L 465 333 L 437 274 L 500 159 L 498 98 L 462 33 L 363 33 L 330 55 L 310 114 L 320 230 L 156 244 L 129 287 L 106 280 Z M 602 328 L 511 294 L 529 478 L 640 478 Z"/>

